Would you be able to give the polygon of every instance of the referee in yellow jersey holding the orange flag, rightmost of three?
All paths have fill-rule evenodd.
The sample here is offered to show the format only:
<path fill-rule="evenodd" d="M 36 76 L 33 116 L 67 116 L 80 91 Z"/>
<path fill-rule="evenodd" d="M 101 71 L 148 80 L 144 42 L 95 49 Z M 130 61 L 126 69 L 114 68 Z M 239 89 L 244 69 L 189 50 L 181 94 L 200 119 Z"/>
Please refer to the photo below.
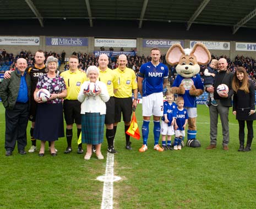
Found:
<path fill-rule="evenodd" d="M 115 92 L 115 123 L 114 131 L 116 135 L 117 123 L 121 122 L 121 114 L 123 114 L 124 133 L 130 125 L 130 118 L 133 113 L 133 107 L 137 107 L 138 100 L 138 84 L 134 71 L 127 68 L 127 57 L 121 54 L 118 57 L 118 68 L 114 70 L 119 78 L 119 89 Z M 132 91 L 134 100 L 132 99 Z M 126 134 L 126 149 L 132 150 L 130 146 L 130 136 Z"/>

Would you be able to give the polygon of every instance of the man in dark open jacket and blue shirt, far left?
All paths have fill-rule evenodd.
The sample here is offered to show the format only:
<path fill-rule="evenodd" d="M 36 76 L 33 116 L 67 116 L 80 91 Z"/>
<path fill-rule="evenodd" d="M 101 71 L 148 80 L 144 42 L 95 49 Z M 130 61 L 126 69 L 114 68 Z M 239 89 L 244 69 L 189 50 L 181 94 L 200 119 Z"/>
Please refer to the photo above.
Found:
<path fill-rule="evenodd" d="M 10 79 L 4 79 L 0 86 L 0 97 L 6 108 L 6 156 L 13 153 L 17 141 L 18 152 L 25 155 L 26 127 L 29 119 L 31 79 L 25 70 L 26 59 L 19 58 Z"/>

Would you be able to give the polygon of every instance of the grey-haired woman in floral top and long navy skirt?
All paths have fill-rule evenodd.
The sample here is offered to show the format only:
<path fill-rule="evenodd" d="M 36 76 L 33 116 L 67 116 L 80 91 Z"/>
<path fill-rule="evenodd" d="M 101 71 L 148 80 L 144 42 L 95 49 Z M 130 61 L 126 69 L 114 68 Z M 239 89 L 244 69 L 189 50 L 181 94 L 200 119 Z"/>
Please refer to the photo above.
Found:
<path fill-rule="evenodd" d="M 34 92 L 35 101 L 39 103 L 34 138 L 41 140 L 39 156 L 45 155 L 46 141 L 51 141 L 51 155 L 57 156 L 55 141 L 64 136 L 62 98 L 67 96 L 67 90 L 62 76 L 56 74 L 58 59 L 50 56 L 45 65 L 48 73 L 39 77 Z M 50 99 L 45 103 L 36 95 L 40 89 L 47 89 L 51 94 Z"/>

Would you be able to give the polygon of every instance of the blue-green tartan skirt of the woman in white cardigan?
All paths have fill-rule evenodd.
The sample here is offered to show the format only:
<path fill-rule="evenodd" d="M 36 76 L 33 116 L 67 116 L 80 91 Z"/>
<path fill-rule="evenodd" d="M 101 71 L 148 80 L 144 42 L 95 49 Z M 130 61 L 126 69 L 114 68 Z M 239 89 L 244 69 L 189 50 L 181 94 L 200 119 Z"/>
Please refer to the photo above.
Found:
<path fill-rule="evenodd" d="M 105 114 L 85 113 L 81 114 L 82 142 L 98 145 L 104 139 Z"/>

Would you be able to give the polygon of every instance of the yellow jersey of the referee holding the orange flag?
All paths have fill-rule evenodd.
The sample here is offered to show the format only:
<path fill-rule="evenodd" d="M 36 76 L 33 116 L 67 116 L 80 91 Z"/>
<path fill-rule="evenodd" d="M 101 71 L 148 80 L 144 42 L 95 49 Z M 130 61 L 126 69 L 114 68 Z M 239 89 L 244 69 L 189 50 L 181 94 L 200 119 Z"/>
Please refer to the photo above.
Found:
<path fill-rule="evenodd" d="M 126 68 L 123 71 L 119 68 L 114 70 L 119 79 L 120 87 L 115 94 L 118 98 L 132 97 L 132 90 L 138 89 L 137 79 L 134 71 Z"/>

